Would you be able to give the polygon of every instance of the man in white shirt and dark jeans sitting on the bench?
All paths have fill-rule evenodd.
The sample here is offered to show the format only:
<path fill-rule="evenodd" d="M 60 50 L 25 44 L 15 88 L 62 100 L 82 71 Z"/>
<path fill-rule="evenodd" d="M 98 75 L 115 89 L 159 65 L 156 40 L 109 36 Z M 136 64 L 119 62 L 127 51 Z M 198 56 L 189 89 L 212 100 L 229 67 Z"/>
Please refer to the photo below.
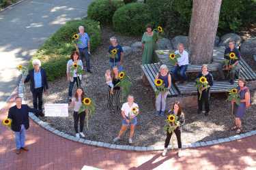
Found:
<path fill-rule="evenodd" d="M 180 83 L 183 83 L 184 81 L 188 80 L 186 76 L 186 69 L 188 69 L 189 61 L 188 61 L 188 52 L 184 50 L 184 44 L 180 43 L 177 44 L 177 49 L 175 51 L 175 54 L 180 54 L 180 58 L 177 58 L 177 63 L 175 63 L 172 73 L 174 76 L 174 80 L 179 80 L 180 75 Z"/>

